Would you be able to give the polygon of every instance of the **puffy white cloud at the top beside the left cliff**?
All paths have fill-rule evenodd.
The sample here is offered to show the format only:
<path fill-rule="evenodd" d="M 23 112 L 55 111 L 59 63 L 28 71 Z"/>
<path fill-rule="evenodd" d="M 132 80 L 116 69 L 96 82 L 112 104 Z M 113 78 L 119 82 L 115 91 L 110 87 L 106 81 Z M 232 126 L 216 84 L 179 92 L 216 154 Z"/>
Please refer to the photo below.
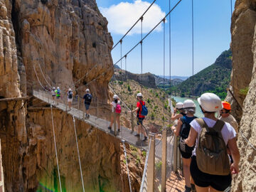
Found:
<path fill-rule="evenodd" d="M 142 16 L 144 11 L 150 6 L 150 3 L 142 0 L 135 0 L 132 3 L 121 2 L 117 5 L 112 5 L 110 8 L 100 7 L 103 16 L 107 18 L 108 29 L 111 33 L 124 35 L 129 28 Z M 148 33 L 154 26 L 156 26 L 166 14 L 161 11 L 160 6 L 154 4 L 149 11 L 146 12 L 143 19 L 143 33 Z M 141 22 L 134 26 L 133 30 L 129 33 L 141 33 Z M 156 28 L 156 31 L 161 31 L 162 25 Z"/>

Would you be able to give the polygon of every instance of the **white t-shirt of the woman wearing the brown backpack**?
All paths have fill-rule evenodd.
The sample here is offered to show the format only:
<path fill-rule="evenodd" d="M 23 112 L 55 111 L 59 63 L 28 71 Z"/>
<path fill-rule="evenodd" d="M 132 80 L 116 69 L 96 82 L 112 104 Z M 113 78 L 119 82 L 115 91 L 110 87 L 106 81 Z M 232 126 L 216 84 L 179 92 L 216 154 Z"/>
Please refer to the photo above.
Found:
<path fill-rule="evenodd" d="M 208 125 L 209 128 L 212 128 L 214 126 L 214 124 L 216 123 L 215 120 L 213 119 L 209 119 L 206 117 L 203 117 L 203 120 L 206 122 L 206 124 Z M 201 127 L 198 124 L 198 122 L 196 122 L 196 119 L 194 119 L 191 123 L 191 128 L 195 129 L 195 131 L 198 133 L 198 137 L 196 138 L 196 146 L 195 149 L 193 149 L 192 152 L 192 156 L 196 156 L 196 147 L 198 146 L 198 140 L 201 134 Z M 236 135 L 235 129 L 227 122 L 225 122 L 225 125 L 223 127 L 223 129 L 221 130 L 221 134 L 223 136 L 224 142 L 227 145 L 228 144 L 228 140 L 233 139 Z"/>

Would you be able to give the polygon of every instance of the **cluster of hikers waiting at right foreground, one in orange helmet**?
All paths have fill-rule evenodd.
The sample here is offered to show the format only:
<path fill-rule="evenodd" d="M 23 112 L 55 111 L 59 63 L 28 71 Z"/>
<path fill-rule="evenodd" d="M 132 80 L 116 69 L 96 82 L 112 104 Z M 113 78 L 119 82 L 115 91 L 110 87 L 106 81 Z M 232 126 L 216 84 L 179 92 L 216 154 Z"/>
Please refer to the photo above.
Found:
<path fill-rule="evenodd" d="M 230 114 L 230 103 L 222 102 L 217 95 L 204 93 L 198 103 L 203 118 L 194 116 L 196 105 L 192 100 L 176 103 L 171 116 L 178 119 L 171 129 L 179 137 L 185 192 L 225 191 L 231 175 L 239 172 L 238 123 Z"/>

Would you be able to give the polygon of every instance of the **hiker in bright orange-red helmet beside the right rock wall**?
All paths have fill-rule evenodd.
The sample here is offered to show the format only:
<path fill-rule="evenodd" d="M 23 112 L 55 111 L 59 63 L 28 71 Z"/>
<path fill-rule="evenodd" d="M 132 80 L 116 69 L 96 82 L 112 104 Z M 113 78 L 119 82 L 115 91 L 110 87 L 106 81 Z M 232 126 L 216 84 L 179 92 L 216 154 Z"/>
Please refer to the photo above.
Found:
<path fill-rule="evenodd" d="M 235 120 L 235 117 L 233 117 L 232 114 L 230 114 L 231 106 L 229 102 L 222 102 L 223 109 L 220 110 L 220 120 L 223 120 L 223 122 L 228 122 L 231 124 L 232 127 L 234 127 L 235 132 L 238 134 L 238 122 Z"/>

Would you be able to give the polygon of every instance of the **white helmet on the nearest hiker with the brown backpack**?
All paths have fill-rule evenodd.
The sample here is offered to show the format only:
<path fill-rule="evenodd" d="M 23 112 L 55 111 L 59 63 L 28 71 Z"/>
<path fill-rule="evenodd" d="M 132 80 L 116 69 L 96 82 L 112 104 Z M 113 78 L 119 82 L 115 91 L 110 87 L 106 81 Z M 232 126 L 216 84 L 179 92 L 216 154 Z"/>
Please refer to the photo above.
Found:
<path fill-rule="evenodd" d="M 198 98 L 198 103 L 206 112 L 219 112 L 223 109 L 220 97 L 212 92 L 206 92 Z"/>

